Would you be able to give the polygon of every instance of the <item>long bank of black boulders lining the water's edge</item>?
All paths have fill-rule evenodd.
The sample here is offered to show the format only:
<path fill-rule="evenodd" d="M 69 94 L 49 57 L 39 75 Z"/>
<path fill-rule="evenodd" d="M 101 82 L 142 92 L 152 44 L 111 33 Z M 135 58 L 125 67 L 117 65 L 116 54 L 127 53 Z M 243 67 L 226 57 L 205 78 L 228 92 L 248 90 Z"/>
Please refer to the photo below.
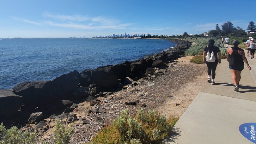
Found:
<path fill-rule="evenodd" d="M 72 107 L 73 101 L 96 100 L 106 96 L 104 92 L 119 91 L 131 83 L 129 78 L 154 75 L 152 68 L 168 67 L 165 63 L 174 62 L 191 45 L 184 40 L 171 41 L 176 43 L 174 48 L 136 61 L 86 69 L 81 73 L 74 70 L 52 81 L 24 81 L 13 87 L 13 91 L 0 90 L 0 122 L 25 124 L 36 112 L 42 112 L 42 118 L 46 118 Z"/>

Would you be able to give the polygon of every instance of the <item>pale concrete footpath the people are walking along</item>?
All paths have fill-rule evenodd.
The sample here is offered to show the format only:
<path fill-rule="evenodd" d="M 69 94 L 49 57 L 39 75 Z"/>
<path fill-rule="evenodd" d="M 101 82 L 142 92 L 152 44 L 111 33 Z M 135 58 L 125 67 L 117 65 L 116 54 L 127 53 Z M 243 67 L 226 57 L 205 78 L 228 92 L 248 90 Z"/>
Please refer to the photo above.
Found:
<path fill-rule="evenodd" d="M 256 123 L 256 59 L 247 57 L 247 60 L 252 70 L 245 65 L 239 92 L 235 92 L 229 63 L 222 59 L 216 69 L 216 85 L 207 83 L 205 78 L 205 87 L 175 124 L 167 143 L 256 143 L 256 127 L 254 131 L 250 128 L 253 125 L 245 124 Z"/>

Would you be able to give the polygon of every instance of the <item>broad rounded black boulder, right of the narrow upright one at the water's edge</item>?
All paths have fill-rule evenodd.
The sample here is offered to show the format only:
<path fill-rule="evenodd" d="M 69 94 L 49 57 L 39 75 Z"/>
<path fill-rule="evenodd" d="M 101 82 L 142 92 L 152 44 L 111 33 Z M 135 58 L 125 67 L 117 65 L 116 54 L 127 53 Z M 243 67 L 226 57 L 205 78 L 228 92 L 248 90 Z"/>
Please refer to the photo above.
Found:
<path fill-rule="evenodd" d="M 103 88 L 113 88 L 119 84 L 117 76 L 113 72 L 95 70 L 92 71 L 93 83 Z"/>

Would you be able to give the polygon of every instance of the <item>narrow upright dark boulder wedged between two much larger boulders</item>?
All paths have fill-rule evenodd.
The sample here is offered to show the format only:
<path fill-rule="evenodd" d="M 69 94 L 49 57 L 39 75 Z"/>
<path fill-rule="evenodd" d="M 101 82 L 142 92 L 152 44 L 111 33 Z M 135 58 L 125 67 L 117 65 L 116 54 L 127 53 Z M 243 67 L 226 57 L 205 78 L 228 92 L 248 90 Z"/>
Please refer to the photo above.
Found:
<path fill-rule="evenodd" d="M 91 69 L 85 69 L 84 71 L 82 71 L 80 76 L 80 86 L 88 87 L 90 84 L 93 83 L 91 71 Z"/>

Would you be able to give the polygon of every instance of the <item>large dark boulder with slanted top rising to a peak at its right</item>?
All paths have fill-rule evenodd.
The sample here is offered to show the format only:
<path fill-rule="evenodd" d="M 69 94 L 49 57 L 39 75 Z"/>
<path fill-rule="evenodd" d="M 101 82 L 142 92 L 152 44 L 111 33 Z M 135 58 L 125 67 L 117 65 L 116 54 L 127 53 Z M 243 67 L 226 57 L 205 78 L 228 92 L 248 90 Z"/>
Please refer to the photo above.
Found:
<path fill-rule="evenodd" d="M 56 95 L 57 97 L 62 97 L 66 93 L 72 92 L 72 90 L 74 90 L 78 86 L 79 79 L 80 73 L 76 70 L 55 78 L 54 80 L 52 80 L 54 95 Z"/>

